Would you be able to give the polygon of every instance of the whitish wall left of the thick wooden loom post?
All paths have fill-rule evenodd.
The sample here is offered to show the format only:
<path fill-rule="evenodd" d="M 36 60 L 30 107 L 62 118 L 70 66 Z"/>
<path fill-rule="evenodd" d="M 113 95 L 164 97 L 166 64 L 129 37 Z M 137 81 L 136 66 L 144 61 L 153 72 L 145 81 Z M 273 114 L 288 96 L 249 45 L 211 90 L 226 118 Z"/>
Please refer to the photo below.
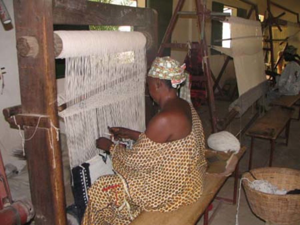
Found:
<path fill-rule="evenodd" d="M 0 149 L 4 164 L 15 164 L 19 169 L 25 165 L 25 161 L 16 160 L 11 156 L 12 150 L 22 149 L 22 142 L 18 130 L 11 129 L 4 120 L 2 109 L 21 104 L 19 73 L 16 53 L 16 37 L 13 18 L 13 1 L 4 0 L 4 4 L 10 13 L 13 29 L 5 31 L 0 24 L 0 67 L 5 67 L 4 90 L 0 95 Z"/>

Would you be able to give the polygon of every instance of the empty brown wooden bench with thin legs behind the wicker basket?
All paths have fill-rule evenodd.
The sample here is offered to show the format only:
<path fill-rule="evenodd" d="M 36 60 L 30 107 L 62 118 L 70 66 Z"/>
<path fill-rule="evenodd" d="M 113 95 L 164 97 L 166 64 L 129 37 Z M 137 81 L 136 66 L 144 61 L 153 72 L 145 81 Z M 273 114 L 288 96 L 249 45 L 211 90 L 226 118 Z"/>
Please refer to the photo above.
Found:
<path fill-rule="evenodd" d="M 253 144 L 255 138 L 270 140 L 271 150 L 269 166 L 272 166 L 275 140 L 285 128 L 286 145 L 289 141 L 289 125 L 294 109 L 290 107 L 274 106 L 264 116 L 258 118 L 247 130 L 246 135 L 251 137 L 249 170 L 252 167 Z"/>

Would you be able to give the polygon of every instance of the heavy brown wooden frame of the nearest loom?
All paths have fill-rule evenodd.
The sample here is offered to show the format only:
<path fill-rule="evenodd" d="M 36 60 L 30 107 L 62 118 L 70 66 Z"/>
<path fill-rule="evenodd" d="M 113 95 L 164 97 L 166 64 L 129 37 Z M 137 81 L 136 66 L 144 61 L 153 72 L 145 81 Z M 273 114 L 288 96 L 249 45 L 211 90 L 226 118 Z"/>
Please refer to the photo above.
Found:
<path fill-rule="evenodd" d="M 32 203 L 36 224 L 66 224 L 61 151 L 48 132 L 58 127 L 53 24 L 130 25 L 147 38 L 147 64 L 157 50 L 157 13 L 85 0 L 14 0 L 19 83 L 22 105 L 4 109 L 12 128 L 24 129 Z M 152 117 L 146 95 L 146 121 Z M 14 116 L 14 118 L 13 118 Z M 40 121 L 39 121 L 40 120 Z M 39 123 L 38 123 L 39 121 Z M 52 140 L 51 140 L 52 141 Z"/>

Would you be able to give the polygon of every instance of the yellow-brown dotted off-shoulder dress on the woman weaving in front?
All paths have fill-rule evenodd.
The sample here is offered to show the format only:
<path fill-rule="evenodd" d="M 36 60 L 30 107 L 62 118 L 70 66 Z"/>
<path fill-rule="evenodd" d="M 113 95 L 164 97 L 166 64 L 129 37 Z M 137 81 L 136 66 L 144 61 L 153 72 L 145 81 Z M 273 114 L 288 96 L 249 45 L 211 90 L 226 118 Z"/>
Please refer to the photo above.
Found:
<path fill-rule="evenodd" d="M 125 225 L 143 210 L 168 212 L 194 203 L 206 171 L 201 120 L 191 106 L 192 131 L 156 143 L 142 133 L 132 150 L 111 147 L 116 175 L 100 177 L 88 190 L 82 225 Z"/>

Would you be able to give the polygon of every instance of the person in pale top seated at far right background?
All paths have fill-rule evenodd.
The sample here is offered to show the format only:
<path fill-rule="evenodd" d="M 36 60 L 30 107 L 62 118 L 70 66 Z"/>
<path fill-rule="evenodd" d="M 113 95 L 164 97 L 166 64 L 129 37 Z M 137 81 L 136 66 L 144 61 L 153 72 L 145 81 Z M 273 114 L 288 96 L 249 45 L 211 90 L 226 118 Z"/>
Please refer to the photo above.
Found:
<path fill-rule="evenodd" d="M 289 45 L 283 52 L 286 67 L 277 78 L 275 87 L 267 94 L 266 105 L 282 95 L 297 95 L 300 92 L 300 61 L 296 59 L 297 49 Z"/>

